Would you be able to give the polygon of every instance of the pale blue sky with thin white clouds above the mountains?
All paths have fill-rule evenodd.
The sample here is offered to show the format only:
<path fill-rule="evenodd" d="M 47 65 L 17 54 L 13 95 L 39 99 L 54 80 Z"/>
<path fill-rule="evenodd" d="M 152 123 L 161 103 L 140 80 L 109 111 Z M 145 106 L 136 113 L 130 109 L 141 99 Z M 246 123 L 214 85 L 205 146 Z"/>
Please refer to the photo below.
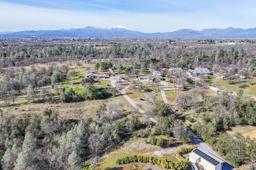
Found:
<path fill-rule="evenodd" d="M 254 28 L 255 0 L 0 0 L 0 32 L 122 25 L 145 33 Z"/>

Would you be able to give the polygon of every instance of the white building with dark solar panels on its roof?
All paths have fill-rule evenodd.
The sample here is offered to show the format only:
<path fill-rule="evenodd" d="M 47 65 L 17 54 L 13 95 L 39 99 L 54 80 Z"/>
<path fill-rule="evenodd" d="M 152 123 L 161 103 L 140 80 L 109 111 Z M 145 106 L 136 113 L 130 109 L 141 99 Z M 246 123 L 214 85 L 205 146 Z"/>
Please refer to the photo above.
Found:
<path fill-rule="evenodd" d="M 222 165 L 224 163 L 223 160 L 202 148 L 192 150 L 188 160 L 196 165 L 195 169 L 198 170 L 201 168 L 204 170 L 222 170 Z"/>

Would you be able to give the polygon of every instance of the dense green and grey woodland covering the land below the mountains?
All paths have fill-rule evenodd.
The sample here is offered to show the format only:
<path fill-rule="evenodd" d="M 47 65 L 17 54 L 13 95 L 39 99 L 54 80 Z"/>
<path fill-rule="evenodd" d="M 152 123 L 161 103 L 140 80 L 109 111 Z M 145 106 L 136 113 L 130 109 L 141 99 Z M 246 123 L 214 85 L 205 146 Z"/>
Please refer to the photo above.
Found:
<path fill-rule="evenodd" d="M 87 70 L 100 69 L 101 72 L 112 67 L 116 73 L 124 73 L 126 79 L 146 73 L 146 70 L 209 68 L 228 75 L 229 84 L 240 86 L 241 80 L 235 74 L 256 76 L 256 48 L 251 39 L 0 38 L 0 99 L 4 101 L 3 107 L 15 106 L 17 98 L 24 95 L 26 103 L 75 103 L 120 95 L 115 88 L 99 90 L 95 86 L 98 82 L 90 78 L 82 80 L 83 92 L 80 94 L 72 88 L 63 88 L 61 82 L 77 74 L 70 67 L 79 68 L 83 63 L 93 66 Z M 170 72 L 163 72 L 166 78 L 173 79 Z M 256 125 L 256 102 L 252 96 L 242 90 L 242 86 L 236 90 L 236 95 L 224 89 L 219 95 L 207 96 L 209 90 L 204 78 L 195 80 L 185 73 L 175 77 L 196 88 L 180 94 L 172 109 L 156 100 L 157 82 L 152 82 L 148 88 L 134 82 L 138 89 L 148 92 L 154 99 L 146 112 L 158 117 L 156 125 L 147 119 L 138 119 L 122 102 L 102 104 L 94 116 L 84 114 L 78 119 L 65 119 L 58 110 L 52 109 L 23 115 L 0 110 L 1 168 L 94 169 L 86 160 L 131 137 L 146 138 L 147 143 L 160 147 L 169 147 L 178 141 L 190 143 L 192 135 L 184 128 L 182 121 L 185 120 L 192 122 L 190 129 L 233 166 L 256 159 L 255 139 L 239 133 L 232 138 L 225 133 L 235 125 Z M 212 86 L 220 84 L 218 81 L 214 83 Z M 175 119 L 178 111 L 192 111 L 192 114 L 181 114 L 181 119 Z M 163 140 L 157 135 L 170 139 Z"/>

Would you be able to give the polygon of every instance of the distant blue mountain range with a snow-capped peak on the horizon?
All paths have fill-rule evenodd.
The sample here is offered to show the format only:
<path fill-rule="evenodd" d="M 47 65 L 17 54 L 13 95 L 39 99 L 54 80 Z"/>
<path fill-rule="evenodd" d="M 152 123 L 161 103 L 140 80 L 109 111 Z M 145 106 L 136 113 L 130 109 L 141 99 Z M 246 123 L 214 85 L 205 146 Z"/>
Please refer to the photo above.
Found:
<path fill-rule="evenodd" d="M 123 26 L 112 28 L 84 27 L 79 29 L 0 32 L 0 37 L 148 37 L 148 38 L 256 38 L 256 28 L 242 29 L 180 29 L 174 32 L 143 33 Z"/>

